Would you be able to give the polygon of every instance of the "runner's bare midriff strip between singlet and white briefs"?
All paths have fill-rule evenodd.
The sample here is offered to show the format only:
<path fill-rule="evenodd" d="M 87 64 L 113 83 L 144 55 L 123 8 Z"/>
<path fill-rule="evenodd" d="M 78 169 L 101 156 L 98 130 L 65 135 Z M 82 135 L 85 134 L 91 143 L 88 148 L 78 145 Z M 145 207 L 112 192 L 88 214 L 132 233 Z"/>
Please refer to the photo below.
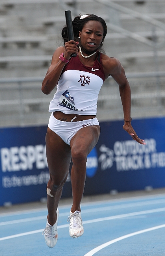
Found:
<path fill-rule="evenodd" d="M 95 118 L 95 116 L 82 116 L 82 115 L 78 115 L 78 114 L 64 114 L 61 111 L 53 112 L 53 115 L 56 119 L 65 121 L 65 122 L 71 122 L 71 120 L 72 120 L 72 122 L 78 122 L 78 121 Z M 75 119 L 73 119 L 73 118 L 75 118 Z"/>

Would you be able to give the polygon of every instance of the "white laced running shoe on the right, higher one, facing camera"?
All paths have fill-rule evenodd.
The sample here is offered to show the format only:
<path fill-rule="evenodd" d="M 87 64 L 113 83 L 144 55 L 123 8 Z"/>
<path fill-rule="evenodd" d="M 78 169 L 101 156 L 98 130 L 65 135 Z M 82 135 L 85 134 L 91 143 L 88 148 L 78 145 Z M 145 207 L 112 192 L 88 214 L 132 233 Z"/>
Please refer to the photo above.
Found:
<path fill-rule="evenodd" d="M 78 238 L 83 234 L 83 223 L 82 217 L 79 211 L 75 211 L 74 213 L 70 213 L 68 218 L 68 222 L 70 221 L 69 232 L 72 238 Z"/>

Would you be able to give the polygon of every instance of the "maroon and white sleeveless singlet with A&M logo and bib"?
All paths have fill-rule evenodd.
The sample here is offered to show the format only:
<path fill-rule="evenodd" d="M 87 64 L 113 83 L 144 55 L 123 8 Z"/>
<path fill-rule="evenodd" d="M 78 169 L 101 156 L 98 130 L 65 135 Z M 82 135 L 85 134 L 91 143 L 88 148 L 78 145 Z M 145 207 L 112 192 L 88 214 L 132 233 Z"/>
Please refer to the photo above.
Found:
<path fill-rule="evenodd" d="M 62 71 L 49 112 L 96 115 L 98 94 L 104 80 L 100 52 L 97 52 L 93 67 L 84 66 L 78 56 L 72 57 Z"/>

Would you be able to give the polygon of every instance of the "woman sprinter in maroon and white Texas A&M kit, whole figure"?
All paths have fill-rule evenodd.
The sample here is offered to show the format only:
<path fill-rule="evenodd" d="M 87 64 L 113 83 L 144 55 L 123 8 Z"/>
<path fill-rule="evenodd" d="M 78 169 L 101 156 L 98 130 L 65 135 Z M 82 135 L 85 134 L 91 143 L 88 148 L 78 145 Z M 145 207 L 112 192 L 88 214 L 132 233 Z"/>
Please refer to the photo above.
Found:
<path fill-rule="evenodd" d="M 131 92 L 124 69 L 119 60 L 100 52 L 107 34 L 105 21 L 87 14 L 76 17 L 72 23 L 75 40 L 68 42 L 67 29 L 63 28 L 65 46 L 58 47 L 54 52 L 42 84 L 44 94 L 50 94 L 57 86 L 50 102 L 49 112 L 52 114 L 46 134 L 50 180 L 47 185 L 48 219 L 43 234 L 49 247 L 54 247 L 58 239 L 58 203 L 71 159 L 73 205 L 69 217 L 69 233 L 72 238 L 83 234 L 80 203 L 85 184 L 86 161 L 99 139 L 97 97 L 108 76 L 112 76 L 119 85 L 124 115 L 123 129 L 133 140 L 145 144 L 131 126 Z M 71 57 L 73 53 L 76 57 Z"/>

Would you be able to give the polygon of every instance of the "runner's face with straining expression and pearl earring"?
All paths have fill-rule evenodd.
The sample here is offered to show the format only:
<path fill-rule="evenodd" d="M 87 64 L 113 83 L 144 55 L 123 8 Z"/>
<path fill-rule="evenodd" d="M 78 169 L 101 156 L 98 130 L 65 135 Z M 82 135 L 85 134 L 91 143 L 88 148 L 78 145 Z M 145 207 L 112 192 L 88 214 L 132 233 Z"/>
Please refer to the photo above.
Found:
<path fill-rule="evenodd" d="M 103 26 L 99 21 L 90 20 L 79 32 L 81 44 L 88 51 L 96 50 L 103 40 Z"/>

